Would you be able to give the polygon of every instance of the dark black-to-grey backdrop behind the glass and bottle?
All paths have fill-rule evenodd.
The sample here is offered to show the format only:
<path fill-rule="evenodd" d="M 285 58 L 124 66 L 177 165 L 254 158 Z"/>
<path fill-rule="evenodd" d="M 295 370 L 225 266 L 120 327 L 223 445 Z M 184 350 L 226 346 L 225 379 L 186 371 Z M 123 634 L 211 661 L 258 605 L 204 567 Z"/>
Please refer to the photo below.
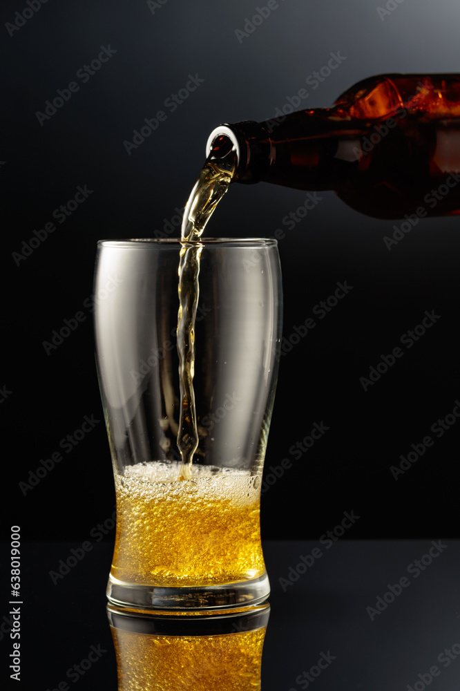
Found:
<path fill-rule="evenodd" d="M 50 0 L 10 36 L 6 22 L 28 6 L 2 0 L 5 535 L 19 524 L 24 540 L 85 540 L 113 513 L 88 307 L 96 241 L 161 231 L 186 202 L 211 129 L 273 117 L 330 53 L 345 59 L 309 90 L 305 106 L 330 105 L 378 73 L 459 70 L 457 3 L 405 0 L 381 19 L 378 1 L 280 1 L 238 40 L 256 3 L 168 0 L 151 9 L 145 1 Z M 109 45 L 116 53 L 83 83 L 77 70 Z M 175 112 L 165 108 L 196 74 L 204 79 L 199 88 Z M 41 126 L 37 111 L 73 81 L 79 91 Z M 123 142 L 159 110 L 166 122 L 128 155 Z M 65 223 L 55 220 L 55 232 L 17 265 L 13 253 L 23 251 L 23 241 L 84 185 L 93 190 L 88 199 Z M 397 222 L 362 216 L 333 192 L 320 196 L 289 231 L 282 218 L 305 193 L 235 184 L 208 231 L 273 236 L 285 229 L 279 250 L 287 337 L 338 281 L 353 286 L 281 358 L 266 473 L 283 458 L 292 467 L 264 492 L 262 535 L 317 539 L 353 510 L 361 519 L 348 538 L 458 536 L 460 424 L 441 439 L 430 427 L 460 397 L 459 220 L 423 219 L 389 252 L 383 237 Z M 359 377 L 400 345 L 425 310 L 441 319 L 365 392 Z M 43 342 L 77 312 L 84 321 L 47 354 Z M 61 439 L 91 415 L 99 423 L 71 453 L 62 452 Z M 289 448 L 315 422 L 329 430 L 295 460 Z M 390 466 L 426 435 L 435 439 L 432 448 L 394 480 Z M 30 482 L 30 471 L 56 451 L 63 460 L 21 491 L 19 483 Z M 113 539 L 113 529 L 105 539 Z"/>

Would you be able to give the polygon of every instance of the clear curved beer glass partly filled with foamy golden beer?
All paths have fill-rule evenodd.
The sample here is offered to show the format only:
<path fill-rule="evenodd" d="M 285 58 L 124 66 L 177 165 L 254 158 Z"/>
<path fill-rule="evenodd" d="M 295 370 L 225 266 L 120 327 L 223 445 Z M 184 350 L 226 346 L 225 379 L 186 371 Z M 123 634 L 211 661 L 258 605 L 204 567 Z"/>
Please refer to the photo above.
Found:
<path fill-rule="evenodd" d="M 184 246 L 102 240 L 97 251 L 97 369 L 117 497 L 107 595 L 141 609 L 241 607 L 269 594 L 259 516 L 281 336 L 276 240 L 193 243 L 198 447 L 187 479 L 176 341 Z"/>

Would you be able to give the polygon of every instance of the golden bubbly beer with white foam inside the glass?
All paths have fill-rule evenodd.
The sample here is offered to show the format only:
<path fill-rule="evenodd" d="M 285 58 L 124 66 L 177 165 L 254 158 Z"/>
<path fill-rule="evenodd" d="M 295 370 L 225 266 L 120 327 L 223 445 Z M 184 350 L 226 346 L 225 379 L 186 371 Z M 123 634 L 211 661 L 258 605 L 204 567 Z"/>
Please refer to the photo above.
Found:
<path fill-rule="evenodd" d="M 223 585 L 265 574 L 260 477 L 193 464 L 127 466 L 115 476 L 117 536 L 111 576 L 138 585 Z"/>

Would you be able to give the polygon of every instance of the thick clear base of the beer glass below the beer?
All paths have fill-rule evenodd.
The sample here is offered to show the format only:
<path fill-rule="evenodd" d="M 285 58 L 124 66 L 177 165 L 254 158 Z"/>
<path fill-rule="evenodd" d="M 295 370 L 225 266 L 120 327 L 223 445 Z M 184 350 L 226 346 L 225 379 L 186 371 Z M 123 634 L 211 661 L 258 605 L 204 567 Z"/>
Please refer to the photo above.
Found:
<path fill-rule="evenodd" d="M 106 594 L 109 602 L 143 609 L 227 609 L 262 603 L 270 594 L 267 574 L 253 580 L 201 587 L 160 587 L 133 585 L 109 576 Z"/>

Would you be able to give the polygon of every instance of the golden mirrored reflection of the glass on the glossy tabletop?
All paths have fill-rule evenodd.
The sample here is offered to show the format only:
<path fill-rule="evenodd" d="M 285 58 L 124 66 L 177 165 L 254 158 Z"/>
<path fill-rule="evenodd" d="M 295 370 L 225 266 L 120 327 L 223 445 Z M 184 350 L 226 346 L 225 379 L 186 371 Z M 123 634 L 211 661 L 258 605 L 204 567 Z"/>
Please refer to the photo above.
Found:
<path fill-rule="evenodd" d="M 219 616 L 140 616 L 108 606 L 118 691 L 260 689 L 269 606 Z"/>

